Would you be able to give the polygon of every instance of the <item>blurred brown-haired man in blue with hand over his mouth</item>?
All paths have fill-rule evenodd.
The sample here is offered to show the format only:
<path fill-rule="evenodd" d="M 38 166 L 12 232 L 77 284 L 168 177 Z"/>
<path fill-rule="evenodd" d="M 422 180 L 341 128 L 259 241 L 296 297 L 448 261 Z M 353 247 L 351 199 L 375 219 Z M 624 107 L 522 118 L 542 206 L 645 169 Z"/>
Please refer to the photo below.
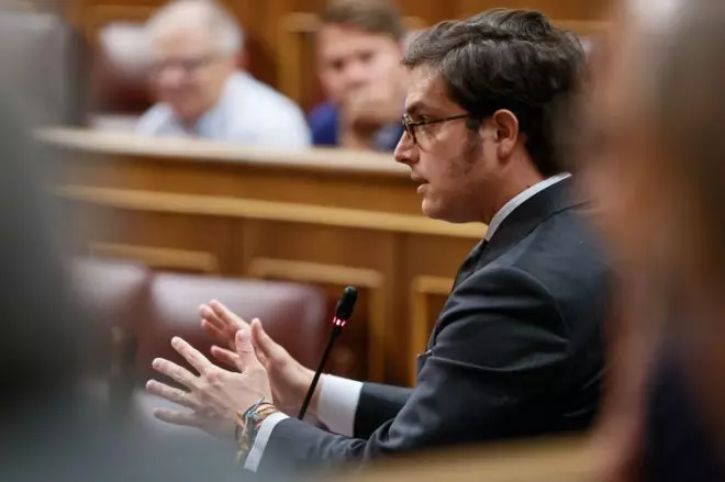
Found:
<path fill-rule="evenodd" d="M 332 0 L 321 21 L 316 68 L 327 101 L 308 117 L 313 143 L 393 150 L 405 101 L 400 12 L 390 0 Z"/>

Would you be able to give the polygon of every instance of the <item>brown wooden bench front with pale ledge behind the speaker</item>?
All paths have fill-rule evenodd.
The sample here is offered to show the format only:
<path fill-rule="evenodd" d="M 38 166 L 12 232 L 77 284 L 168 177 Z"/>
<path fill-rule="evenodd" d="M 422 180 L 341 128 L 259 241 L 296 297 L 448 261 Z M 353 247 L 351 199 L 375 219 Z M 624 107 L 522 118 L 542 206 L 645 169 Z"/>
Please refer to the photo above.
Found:
<path fill-rule="evenodd" d="M 341 374 L 409 384 L 458 265 L 486 232 L 421 214 L 388 154 L 245 149 L 86 131 L 41 135 L 79 249 L 149 266 L 360 290 Z"/>

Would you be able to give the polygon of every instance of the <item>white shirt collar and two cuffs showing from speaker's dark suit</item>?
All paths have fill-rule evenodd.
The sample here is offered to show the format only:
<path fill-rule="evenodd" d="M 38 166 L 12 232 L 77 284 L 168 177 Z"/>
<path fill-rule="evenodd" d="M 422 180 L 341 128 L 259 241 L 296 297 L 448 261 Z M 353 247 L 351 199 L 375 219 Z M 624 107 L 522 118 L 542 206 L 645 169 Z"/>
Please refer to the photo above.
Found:
<path fill-rule="evenodd" d="M 547 178 L 536 184 L 520 192 L 517 195 L 509 200 L 493 216 L 489 228 L 486 232 L 486 239 L 491 240 L 493 234 L 499 229 L 503 220 L 505 220 L 516 208 L 522 205 L 526 200 L 534 197 L 534 194 L 556 184 L 557 182 L 570 177 L 568 172 Z M 325 426 L 335 434 L 353 437 L 355 427 L 355 413 L 357 405 L 360 401 L 360 393 L 362 392 L 362 382 L 348 380 L 332 374 L 324 374 L 320 379 L 320 401 L 317 406 L 317 418 L 325 424 Z M 288 418 L 287 415 L 276 414 L 277 416 L 268 417 L 261 423 L 257 438 L 255 439 L 249 457 L 244 464 L 245 469 L 253 471 L 257 470 L 261 455 L 265 447 L 269 441 L 272 429 L 281 421 Z M 254 459 L 252 455 L 255 455 Z"/>

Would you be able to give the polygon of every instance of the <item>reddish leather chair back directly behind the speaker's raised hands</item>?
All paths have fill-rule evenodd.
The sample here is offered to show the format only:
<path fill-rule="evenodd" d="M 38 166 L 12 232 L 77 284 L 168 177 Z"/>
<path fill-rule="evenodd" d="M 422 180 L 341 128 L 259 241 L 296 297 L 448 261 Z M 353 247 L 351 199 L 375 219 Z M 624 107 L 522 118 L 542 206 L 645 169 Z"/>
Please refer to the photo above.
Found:
<path fill-rule="evenodd" d="M 180 336 L 204 354 L 215 343 L 199 324 L 199 305 L 216 299 L 246 321 L 263 326 L 301 363 L 316 365 L 330 325 L 324 294 L 298 283 L 156 273 L 149 288 L 149 320 L 138 328 L 137 374 L 155 375 L 152 360 L 163 357 L 186 365 L 171 348 Z"/>

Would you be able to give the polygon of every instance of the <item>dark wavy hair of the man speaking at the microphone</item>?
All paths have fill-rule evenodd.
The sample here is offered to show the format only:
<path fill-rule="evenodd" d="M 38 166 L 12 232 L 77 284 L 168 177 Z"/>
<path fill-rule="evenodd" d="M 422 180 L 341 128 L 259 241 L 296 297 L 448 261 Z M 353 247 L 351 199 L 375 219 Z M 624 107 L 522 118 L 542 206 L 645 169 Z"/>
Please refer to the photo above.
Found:
<path fill-rule="evenodd" d="M 450 99 L 473 117 L 472 130 L 497 110 L 512 111 L 538 171 L 561 170 L 555 155 L 558 112 L 578 90 L 585 66 L 572 33 L 536 11 L 493 9 L 421 33 L 403 65 L 437 69 Z"/>

